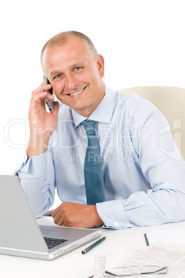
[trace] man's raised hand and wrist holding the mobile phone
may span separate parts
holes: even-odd
[[[28,158],[43,154],[48,149],[48,141],[57,127],[59,102],[55,102],[53,113],[46,111],[45,98],[54,99],[46,90],[51,84],[41,84],[32,92],[29,109],[30,139],[28,142]]]

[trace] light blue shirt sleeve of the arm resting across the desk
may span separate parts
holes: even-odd
[[[137,156],[146,157],[145,161],[139,160],[137,166],[150,188],[146,192],[135,192],[126,200],[97,203],[104,228],[184,221],[185,162],[161,113],[150,115],[133,145]]]

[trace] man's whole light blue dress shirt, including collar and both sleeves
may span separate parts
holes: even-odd
[[[166,104],[167,105],[167,104]],[[86,204],[83,116],[60,104],[48,151],[16,171],[36,217],[54,202]],[[107,228],[132,228],[185,220],[185,162],[164,115],[137,95],[106,95],[88,118],[97,121],[106,202],[97,212]],[[92,184],[93,186],[93,184]]]

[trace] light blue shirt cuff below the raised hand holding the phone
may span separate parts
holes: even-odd
[[[19,178],[40,178],[46,175],[46,152],[28,159],[25,154],[21,165],[14,171]]]

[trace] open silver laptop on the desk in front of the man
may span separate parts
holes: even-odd
[[[17,176],[0,176],[0,254],[55,259],[101,230],[37,225]]]

